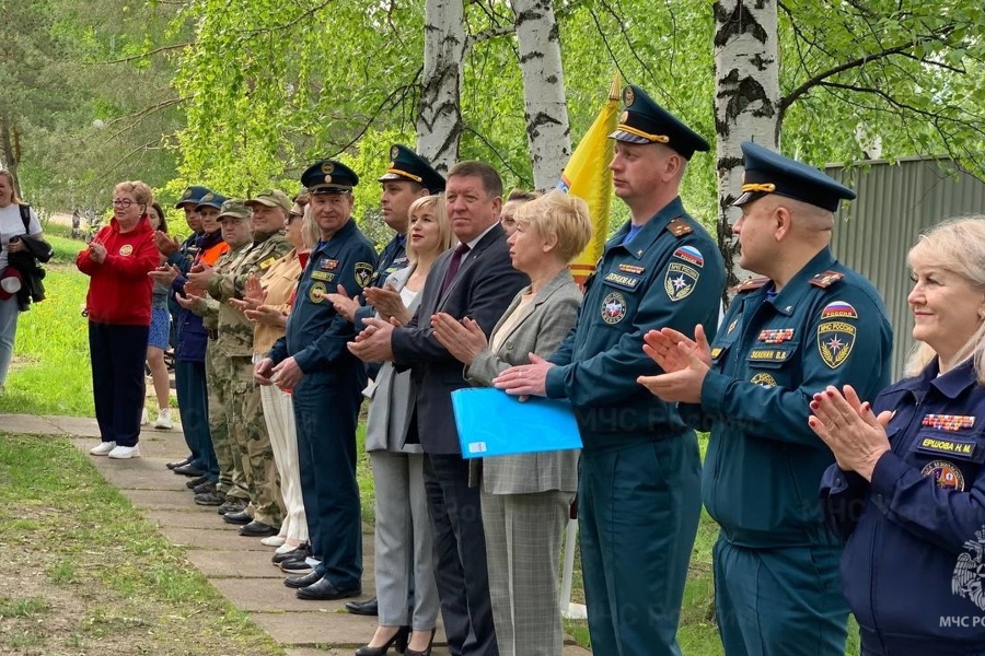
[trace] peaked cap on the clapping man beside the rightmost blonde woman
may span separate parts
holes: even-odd
[[[855,200],[855,191],[813,166],[785,157],[752,141],[742,142],[745,173],[742,195],[732,203],[743,206],[768,194],[795,198],[834,212],[842,200]]]

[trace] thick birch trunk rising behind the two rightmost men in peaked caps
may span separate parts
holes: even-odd
[[[715,3],[715,131],[718,154],[718,244],[735,281],[730,203],[742,188],[743,141],[779,143],[776,0]]]

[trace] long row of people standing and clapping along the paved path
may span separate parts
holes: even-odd
[[[274,548],[301,599],[362,594],[356,431],[371,400],[378,598],[347,606],[379,625],[357,656],[429,654],[439,611],[456,656],[560,654],[572,504],[596,654],[681,653],[703,506],[720,527],[726,654],[841,656],[849,610],[866,655],[982,653],[983,622],[937,616],[985,609],[985,220],[941,224],[911,251],[923,347],[889,387],[885,308],[830,248],[855,192],[744,143],[732,230],[756,277],[719,321],[725,265],[679,195],[709,145],[641,89],[623,99],[610,167],[630,220],[583,289],[568,263],[591,237],[584,203],[514,194],[505,211],[483,162],[442,175],[394,145],[379,255],[352,220],[359,176],[338,161],[313,163],[293,199],[188,187],[183,243],[151,225],[163,214],[147,185],[120,183],[77,260],[91,453],[139,456],[167,303],[189,452],[167,467]],[[583,448],[464,459],[451,393],[468,386],[566,399]]]

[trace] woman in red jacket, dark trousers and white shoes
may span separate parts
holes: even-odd
[[[118,184],[109,225],[76,258],[79,270],[90,277],[89,353],[102,436],[102,443],[89,452],[94,456],[140,455],[137,440],[153,286],[148,273],[160,258],[147,218],[153,200],[150,187],[139,180]]]

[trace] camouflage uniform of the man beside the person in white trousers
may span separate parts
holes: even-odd
[[[253,379],[253,324],[228,301],[242,298],[246,280],[262,276],[290,249],[283,231],[255,233],[253,244],[232,255],[229,267],[212,277],[208,290],[220,303],[216,340],[220,358],[212,365],[229,386],[224,414],[233,460],[242,467],[250,492],[246,514],[274,527],[280,526],[283,505],[259,387]]]

